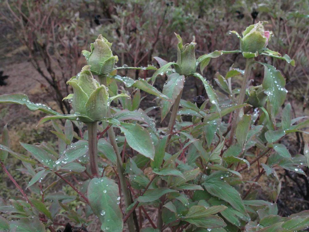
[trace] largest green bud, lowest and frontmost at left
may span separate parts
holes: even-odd
[[[73,110],[76,114],[85,115],[94,121],[105,117],[108,106],[108,92],[104,85],[100,85],[92,76],[90,65],[83,67],[82,71],[72,77],[67,84],[73,87]]]

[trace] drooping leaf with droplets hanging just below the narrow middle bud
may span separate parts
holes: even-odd
[[[171,106],[176,101],[176,98],[184,88],[184,75],[173,73],[168,76],[167,83],[164,84],[162,93],[165,94],[171,101],[162,100],[161,107],[161,122],[166,117],[171,109]]]

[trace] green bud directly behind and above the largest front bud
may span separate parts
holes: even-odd
[[[114,70],[115,63],[118,62],[118,57],[113,56],[111,50],[112,43],[99,35],[94,43],[90,45],[90,52],[83,50],[91,72],[95,75],[107,75]]]

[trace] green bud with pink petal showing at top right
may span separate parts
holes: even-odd
[[[266,21],[260,21],[257,24],[250,25],[243,31],[243,37],[235,33],[240,39],[240,50],[245,53],[256,53],[264,49],[270,40],[272,32],[265,31],[264,24]]]

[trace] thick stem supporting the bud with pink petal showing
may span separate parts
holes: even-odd
[[[243,101],[245,99],[246,87],[247,87],[247,83],[249,81],[249,77],[250,77],[250,74],[251,74],[252,64],[253,64],[253,58],[247,58],[246,59],[245,73],[243,75],[243,83],[241,85],[241,89],[240,89],[237,105],[243,104]],[[235,112],[235,115],[234,115],[234,118],[233,118],[233,122],[232,122],[229,146],[231,146],[231,144],[232,144],[232,142],[234,140],[234,134],[235,134],[235,130],[236,130],[236,126],[237,126],[238,120],[239,120],[239,113],[240,113],[241,110],[243,110],[243,108],[239,108]]]

